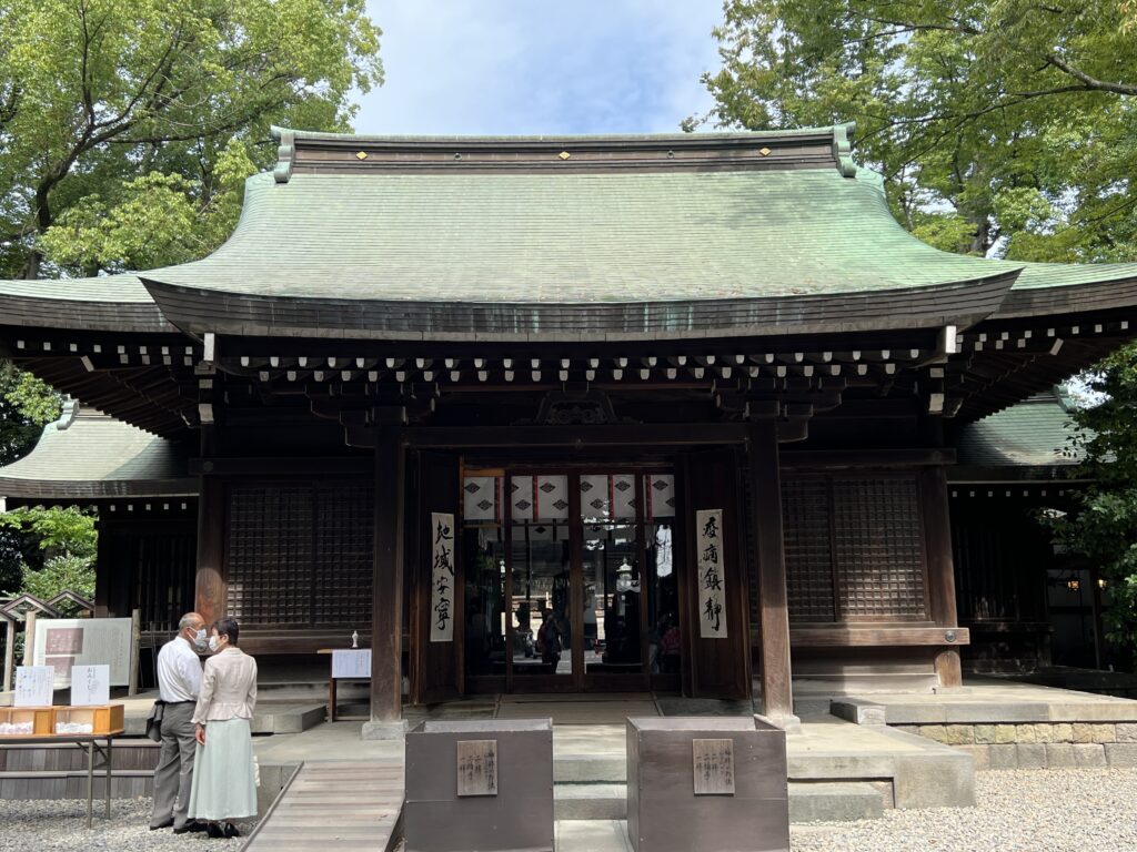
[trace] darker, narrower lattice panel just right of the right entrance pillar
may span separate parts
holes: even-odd
[[[828,482],[820,476],[783,479],[782,523],[790,620],[832,621]]]

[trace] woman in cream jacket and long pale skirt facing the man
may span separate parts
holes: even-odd
[[[249,727],[257,703],[257,661],[236,646],[238,632],[232,618],[213,626],[214,655],[206,660],[193,713],[198,746],[190,818],[207,821],[210,837],[236,837],[233,820],[257,816]]]

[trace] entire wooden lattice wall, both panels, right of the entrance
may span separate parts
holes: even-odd
[[[928,619],[915,475],[789,475],[786,584],[795,623]]]

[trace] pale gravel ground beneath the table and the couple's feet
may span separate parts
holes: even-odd
[[[211,841],[205,834],[175,835],[169,828],[150,830],[151,799],[119,799],[110,802],[110,820],[102,817],[103,804],[94,803],[91,830],[86,828],[86,802],[77,799],[0,801],[0,850],[55,852],[56,850],[190,850],[236,852],[243,837]],[[254,822],[238,822],[243,833]]]

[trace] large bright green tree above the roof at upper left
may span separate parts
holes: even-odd
[[[347,130],[379,35],[364,0],[0,0],[0,277],[207,253],[271,124]]]

